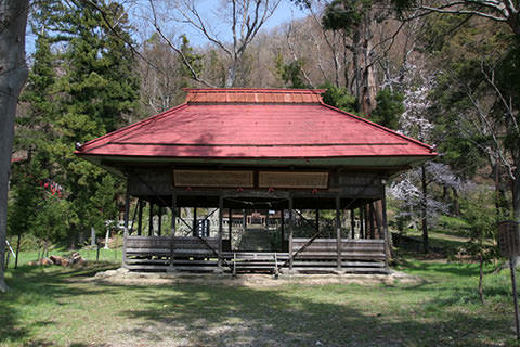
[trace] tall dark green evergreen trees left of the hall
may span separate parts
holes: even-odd
[[[115,196],[121,182],[74,155],[77,142],[126,125],[138,100],[135,61],[126,43],[132,41],[127,13],[110,0],[96,1],[96,7],[103,14],[88,2],[35,3],[35,62],[15,147],[28,153],[29,165],[21,167],[20,177],[56,182],[66,193],[61,198],[40,197],[31,213],[38,198],[30,198],[27,206],[18,203],[29,198],[30,182],[14,182],[13,232],[30,228],[38,236],[57,242],[65,236],[73,240],[90,226],[102,231],[106,220],[117,219]],[[31,167],[40,169],[31,171]],[[24,223],[24,215],[29,222]]]

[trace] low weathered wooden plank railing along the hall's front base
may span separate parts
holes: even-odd
[[[224,271],[301,273],[387,273],[382,240],[342,239],[338,257],[335,239],[292,240],[289,253],[221,252],[216,237],[126,236],[123,267],[133,271]],[[220,261],[219,261],[220,259]],[[220,264],[219,264],[220,262]]]

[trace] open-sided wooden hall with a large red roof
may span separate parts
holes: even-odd
[[[185,103],[78,145],[127,179],[122,266],[388,272],[385,185],[437,154],[322,92],[188,89]]]

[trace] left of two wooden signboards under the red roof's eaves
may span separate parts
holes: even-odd
[[[253,188],[252,171],[173,170],[174,187]]]

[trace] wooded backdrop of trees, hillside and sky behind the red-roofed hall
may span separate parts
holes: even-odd
[[[183,88],[320,88],[440,154],[389,182],[392,229],[416,229],[428,252],[441,226],[490,259],[496,222],[520,220],[515,3],[294,0],[307,16],[266,29],[280,0],[34,2],[8,235],[74,246],[104,234],[123,183],[76,143],[182,103]]]

